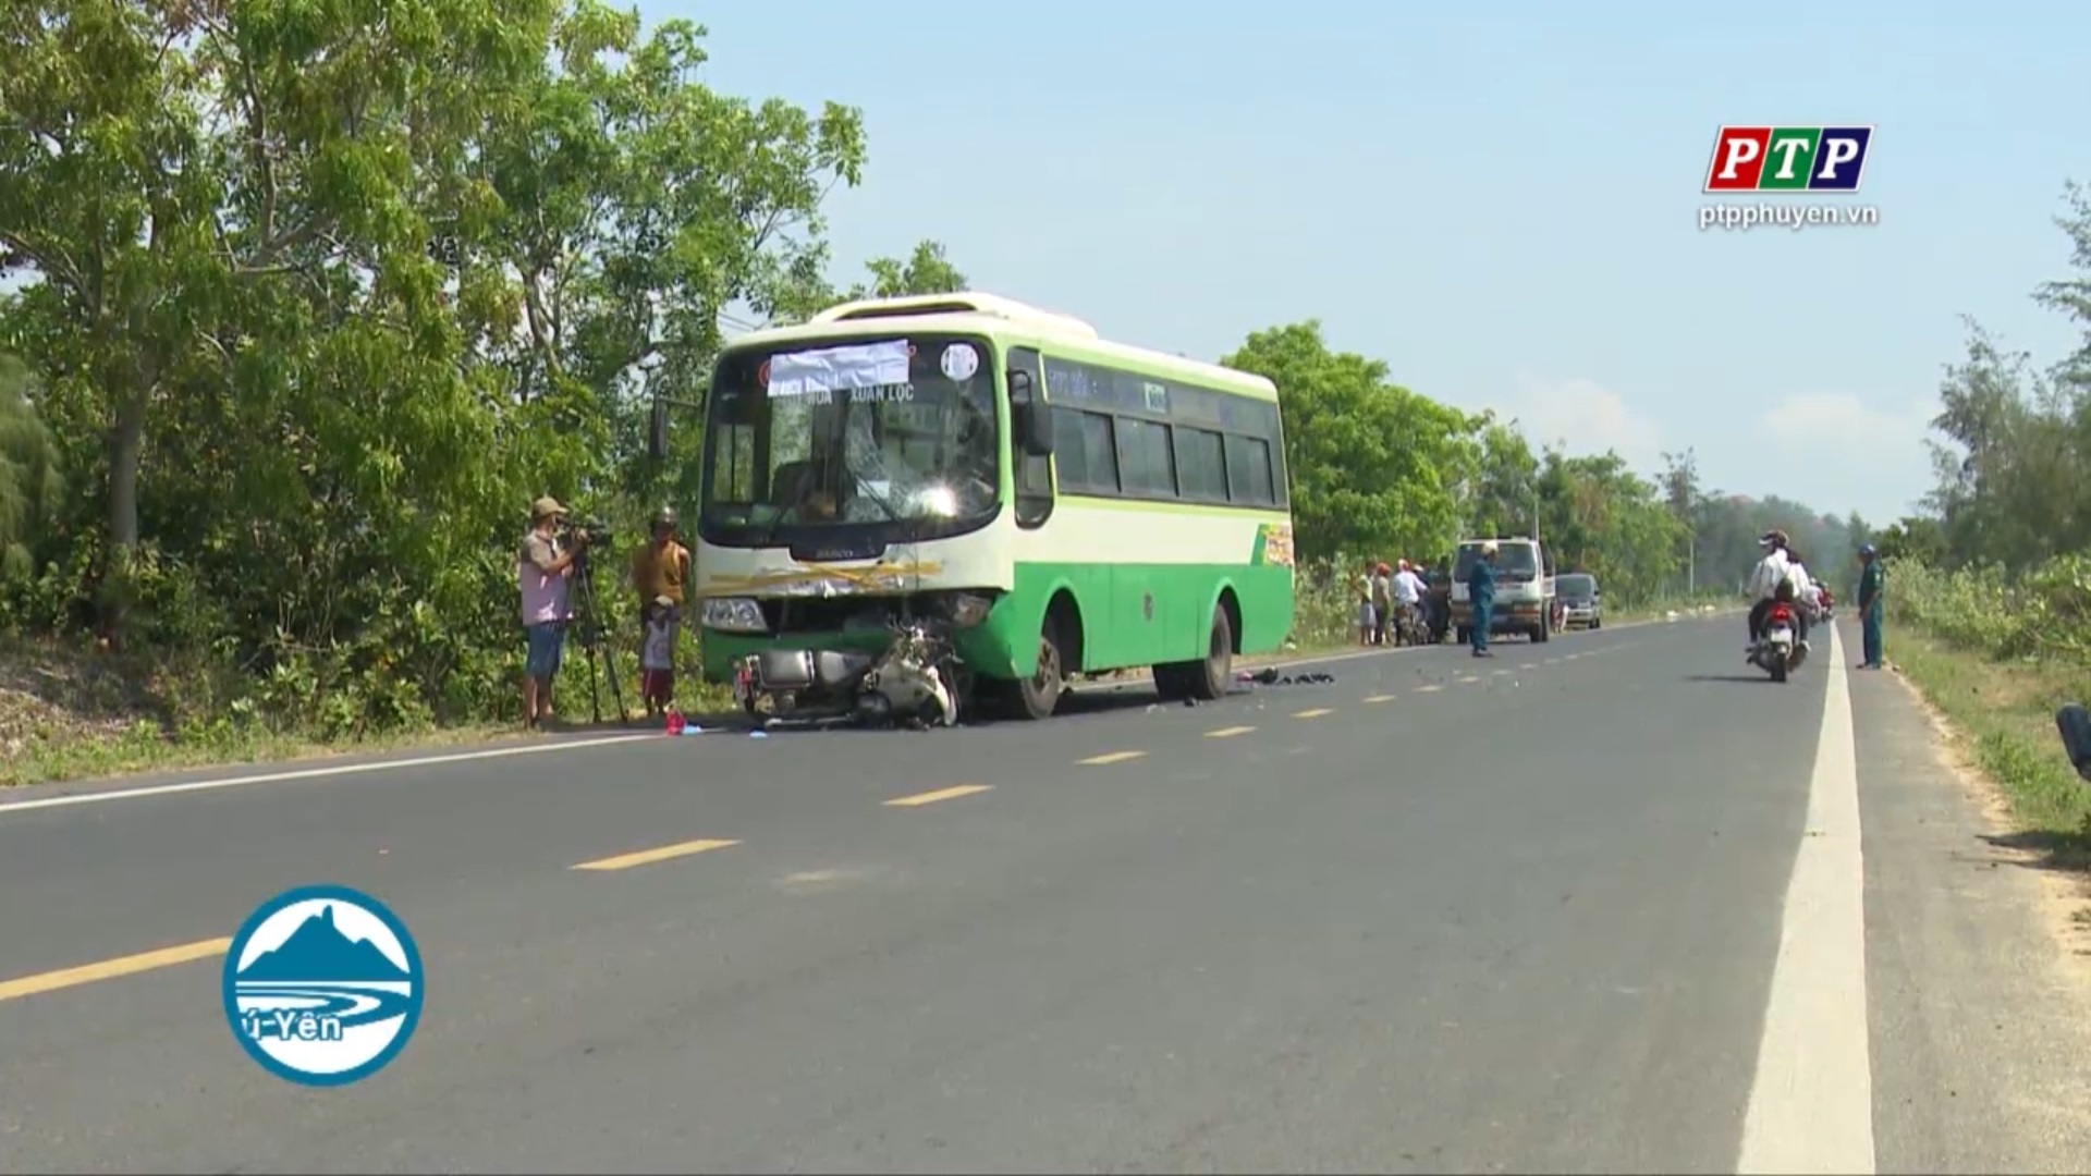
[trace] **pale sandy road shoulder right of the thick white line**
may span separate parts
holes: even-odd
[[[1897,674],[1853,674],[1878,1172],[2081,1172],[2081,883],[1999,843],[1997,789]]]

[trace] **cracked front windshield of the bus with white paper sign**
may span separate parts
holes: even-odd
[[[705,427],[707,538],[769,542],[851,523],[933,538],[991,515],[997,490],[985,339],[838,339],[719,360]]]

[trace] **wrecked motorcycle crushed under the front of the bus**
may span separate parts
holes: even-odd
[[[914,617],[887,628],[893,640],[884,653],[751,653],[734,668],[734,699],[751,716],[767,699],[778,718],[953,726],[966,684],[949,626]]]

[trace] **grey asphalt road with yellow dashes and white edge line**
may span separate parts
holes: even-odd
[[[0,1170],[2081,1170],[2032,883],[1968,898],[1976,816],[1890,676],[1819,640],[1773,686],[1740,628],[19,789]],[[335,1090],[220,1011],[222,940],[309,883],[429,969],[408,1050]]]

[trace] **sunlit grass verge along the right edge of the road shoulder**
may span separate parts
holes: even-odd
[[[1999,661],[1909,628],[1888,636],[1894,668],[1957,728],[1968,760],[2003,793],[2016,841],[2049,866],[2091,870],[2091,787],[2055,737],[2055,707],[2091,695],[2091,672]]]

